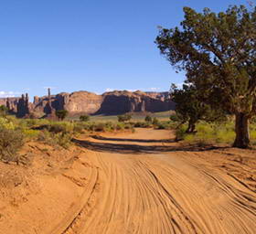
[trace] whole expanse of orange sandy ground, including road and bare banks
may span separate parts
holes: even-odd
[[[0,165],[0,233],[256,233],[256,152],[172,138],[138,129],[72,151],[30,145],[32,165]]]

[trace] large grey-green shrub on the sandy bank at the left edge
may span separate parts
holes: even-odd
[[[0,128],[0,160],[18,164],[18,150],[24,144],[24,135],[18,130]]]

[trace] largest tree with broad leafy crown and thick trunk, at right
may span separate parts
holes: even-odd
[[[235,114],[235,147],[250,145],[256,113],[256,8],[230,6],[219,14],[185,7],[181,27],[161,28],[156,44],[178,71],[185,70],[212,108]]]

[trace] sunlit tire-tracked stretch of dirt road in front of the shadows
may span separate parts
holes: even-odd
[[[255,193],[193,153],[88,156],[101,186],[62,233],[255,233]]]

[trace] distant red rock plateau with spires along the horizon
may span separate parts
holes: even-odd
[[[67,110],[70,116],[80,114],[115,115],[125,112],[165,112],[175,110],[175,103],[168,92],[131,92],[114,90],[98,95],[88,91],[61,92],[57,95],[34,97],[29,102],[28,94],[19,98],[2,98],[0,105],[23,118],[33,114],[36,117],[49,116],[57,110]]]

